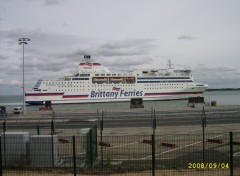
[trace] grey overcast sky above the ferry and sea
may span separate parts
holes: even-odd
[[[239,0],[0,0],[0,95],[76,71],[83,54],[110,70],[192,69],[210,88],[240,87]]]

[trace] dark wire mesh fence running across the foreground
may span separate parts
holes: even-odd
[[[163,172],[240,172],[240,133],[100,136],[96,128],[80,136],[1,136],[2,175],[157,175]],[[204,148],[203,148],[203,144]]]

